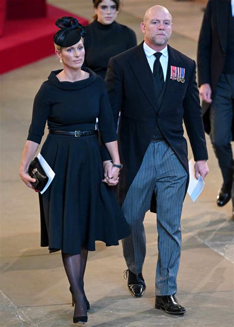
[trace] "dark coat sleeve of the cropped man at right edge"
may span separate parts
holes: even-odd
[[[198,85],[211,84],[210,55],[211,55],[211,1],[207,3],[197,47]],[[218,36],[217,36],[218,37]]]

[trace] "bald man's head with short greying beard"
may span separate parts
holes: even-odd
[[[141,24],[145,40],[155,45],[166,45],[170,39],[173,24],[169,11],[162,8],[154,8],[147,15],[145,22]]]

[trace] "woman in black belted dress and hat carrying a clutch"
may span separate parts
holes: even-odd
[[[102,181],[101,147],[95,132],[97,117],[112,161],[120,165],[105,83],[90,69],[81,69],[85,31],[78,20],[62,17],[56,25],[60,30],[54,36],[55,52],[64,69],[51,72],[35,97],[20,176],[33,188],[36,180],[27,171],[47,121],[49,134],[41,155],[55,177],[48,189],[39,194],[41,246],[48,246],[50,252],[62,251],[74,296],[74,322],[84,323],[89,309],[83,289],[88,251],[95,250],[96,240],[118,245],[118,240],[129,235],[129,229],[113,190]],[[118,173],[119,168],[114,166],[109,185],[117,184]]]

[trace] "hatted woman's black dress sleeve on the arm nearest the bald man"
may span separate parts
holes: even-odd
[[[101,132],[103,142],[108,143],[117,140],[117,131],[105,82],[101,78],[100,81],[102,90],[99,103],[98,127]]]

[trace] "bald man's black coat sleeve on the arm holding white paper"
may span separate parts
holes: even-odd
[[[208,159],[205,131],[202,122],[199,91],[196,83],[196,64],[190,79],[184,101],[184,123],[194,154],[194,160]]]

